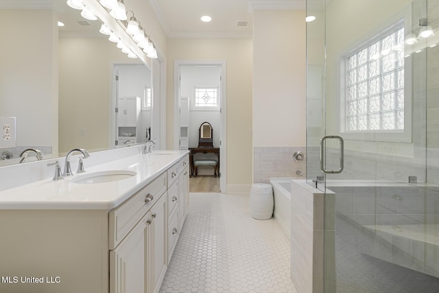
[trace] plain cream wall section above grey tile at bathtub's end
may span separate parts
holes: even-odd
[[[256,10],[253,147],[305,145],[305,11]]]

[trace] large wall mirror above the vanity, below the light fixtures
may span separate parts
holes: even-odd
[[[151,65],[123,54],[99,33],[99,21],[86,21],[65,1],[51,2],[0,0],[0,35],[8,44],[0,54],[0,117],[16,117],[16,148],[0,148],[13,158],[0,159],[0,166],[18,163],[26,148],[40,149],[46,159],[72,148],[123,145],[121,137],[133,134],[118,128],[115,108],[124,97],[140,99],[130,140],[147,139]]]

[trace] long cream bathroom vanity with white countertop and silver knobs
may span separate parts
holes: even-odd
[[[158,292],[188,204],[187,151],[0,191],[0,292]]]

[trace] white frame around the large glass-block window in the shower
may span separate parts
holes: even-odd
[[[407,32],[407,17],[401,16],[392,25],[381,27],[381,30],[375,32],[372,37],[368,38],[364,42],[354,45],[352,49],[346,51],[340,57],[340,134],[345,139],[352,140],[366,140],[366,141],[392,141],[392,142],[412,142],[412,55],[405,56],[404,58],[404,130],[357,130],[348,131],[348,97],[347,97],[347,81],[348,77],[348,64],[347,58],[353,54],[357,54],[362,49],[369,47],[376,43],[378,40],[382,40],[385,36],[392,34],[404,27],[404,31]],[[369,96],[368,96],[369,97]],[[380,112],[381,113],[381,112]]]

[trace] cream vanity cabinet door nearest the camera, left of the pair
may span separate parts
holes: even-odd
[[[147,213],[121,244],[110,250],[110,293],[147,292],[147,223],[151,220],[151,213]]]

